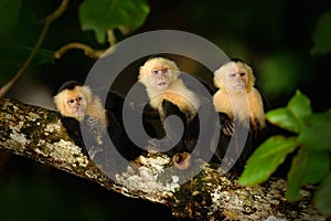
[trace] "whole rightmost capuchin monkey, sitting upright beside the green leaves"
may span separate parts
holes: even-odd
[[[220,90],[214,94],[213,103],[221,118],[221,138],[215,156],[223,160],[226,170],[232,168],[231,171],[238,175],[265,136],[263,98],[254,87],[252,67],[238,59],[232,59],[215,71],[214,84]]]

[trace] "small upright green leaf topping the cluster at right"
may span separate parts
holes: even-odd
[[[312,113],[310,99],[301,94],[300,91],[296,92],[296,95],[289,101],[287,107],[297,118],[302,118]]]

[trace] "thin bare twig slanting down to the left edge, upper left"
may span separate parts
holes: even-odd
[[[0,88],[0,98],[4,96],[4,94],[17,83],[17,81],[22,76],[22,74],[28,70],[28,67],[30,66],[33,57],[35,56],[36,52],[39,51],[47,31],[51,25],[51,23],[60,18],[63,12],[66,10],[67,6],[70,3],[70,0],[63,0],[62,3],[60,4],[60,7],[51,14],[49,14],[45,18],[45,22],[44,22],[44,27],[42,29],[42,32],[31,52],[31,54],[29,55],[28,60],[25,61],[25,63],[21,66],[21,69],[18,71],[18,73],[6,84]]]

